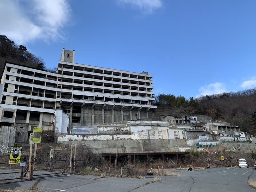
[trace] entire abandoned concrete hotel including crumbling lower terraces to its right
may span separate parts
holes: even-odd
[[[0,145],[27,143],[34,127],[51,131],[57,142],[86,141],[102,154],[185,152],[249,139],[239,127],[209,116],[155,115],[151,78],[147,72],[77,64],[75,51],[65,49],[56,73],[7,62],[0,84]]]

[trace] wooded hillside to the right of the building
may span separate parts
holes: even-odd
[[[154,104],[177,110],[182,108],[190,115],[209,115],[214,121],[226,121],[233,126],[239,126],[241,131],[256,136],[256,88],[206,95],[196,99],[191,97],[188,100],[183,96],[158,94],[155,96]]]

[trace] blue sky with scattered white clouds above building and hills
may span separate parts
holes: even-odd
[[[5,34],[55,67],[148,71],[154,91],[186,98],[256,86],[256,1],[1,1]],[[1,15],[3,14],[3,15]]]

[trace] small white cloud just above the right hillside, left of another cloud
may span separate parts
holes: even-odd
[[[223,83],[211,83],[209,85],[206,86],[202,86],[199,88],[199,94],[196,95],[196,97],[200,97],[203,95],[213,95],[213,94],[220,94],[223,92],[227,92],[226,88],[225,88],[225,84]]]

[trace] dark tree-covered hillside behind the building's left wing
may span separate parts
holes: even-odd
[[[55,72],[55,69],[47,69],[44,65],[44,60],[28,52],[25,46],[16,45],[5,35],[0,35],[0,74],[2,74],[5,62]]]

